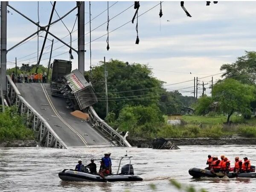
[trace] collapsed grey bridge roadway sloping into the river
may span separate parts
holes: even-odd
[[[72,110],[65,107],[64,99],[52,97],[49,83],[16,83],[16,86],[68,147],[111,146],[111,142],[87,122],[71,115]]]

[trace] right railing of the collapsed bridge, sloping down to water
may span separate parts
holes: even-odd
[[[130,143],[122,137],[115,129],[109,126],[104,120],[102,120],[92,106],[88,107],[88,114],[90,115],[91,120],[94,122],[97,128],[108,135],[108,137],[117,142],[118,146],[131,147]]]

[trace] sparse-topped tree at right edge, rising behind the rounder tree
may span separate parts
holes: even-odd
[[[256,83],[256,52],[245,51],[245,55],[238,57],[235,63],[224,64],[220,70],[225,71],[222,77],[253,85]]]

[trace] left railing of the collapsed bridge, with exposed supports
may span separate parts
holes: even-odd
[[[26,117],[26,125],[38,133],[41,146],[67,149],[66,144],[53,131],[49,123],[20,95],[11,77],[7,76],[7,98],[11,105],[16,105],[18,112]]]

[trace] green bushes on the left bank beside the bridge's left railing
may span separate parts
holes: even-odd
[[[16,111],[10,107],[0,113],[0,141],[34,139],[33,131],[26,128],[24,119]]]

